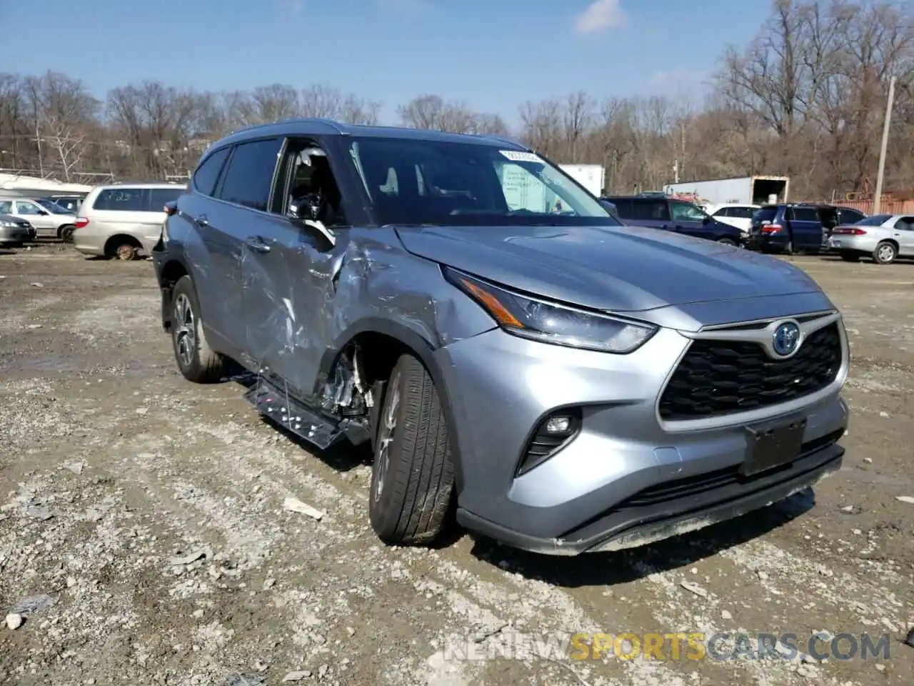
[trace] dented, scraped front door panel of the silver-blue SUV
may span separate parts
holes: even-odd
[[[264,230],[248,236],[241,258],[248,353],[264,376],[310,402],[333,340],[335,274],[348,230],[336,231],[330,248],[300,222],[279,215],[260,221]]]

